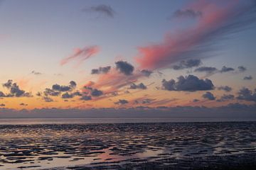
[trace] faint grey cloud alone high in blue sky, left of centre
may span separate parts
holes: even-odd
[[[107,6],[105,4],[100,4],[97,6],[90,6],[90,8],[83,8],[82,11],[100,13],[100,14],[110,17],[110,18],[113,18],[114,14],[115,14],[113,8],[111,6]]]

